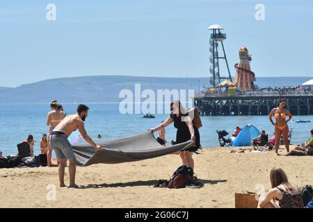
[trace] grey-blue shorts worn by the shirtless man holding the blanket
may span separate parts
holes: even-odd
[[[54,149],[54,152],[56,152],[57,160],[75,159],[73,147],[65,134],[50,135],[50,144]]]

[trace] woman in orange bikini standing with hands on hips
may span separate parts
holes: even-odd
[[[278,108],[273,108],[271,113],[269,114],[269,119],[273,126],[275,126],[275,151],[278,155],[278,148],[280,148],[280,138],[283,137],[284,139],[284,146],[286,147],[287,153],[289,153],[289,141],[288,141],[288,134],[289,134],[289,127],[288,122],[292,118],[292,114],[286,108],[287,101],[286,99],[282,99],[278,102]],[[273,122],[272,117],[275,117],[276,122]],[[289,117],[286,120],[287,116]]]

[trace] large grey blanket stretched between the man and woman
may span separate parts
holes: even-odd
[[[189,140],[173,146],[161,146],[153,133],[148,131],[147,133],[116,139],[111,142],[100,143],[99,145],[104,148],[98,152],[90,145],[73,146],[77,165],[86,167],[99,163],[118,164],[146,160],[182,151],[194,146],[194,142]]]

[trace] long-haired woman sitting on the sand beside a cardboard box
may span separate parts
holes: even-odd
[[[272,189],[268,191],[264,200],[260,200],[262,208],[303,208],[301,190],[291,185],[286,173],[280,168],[271,169],[270,173]],[[278,200],[278,204],[275,203]]]

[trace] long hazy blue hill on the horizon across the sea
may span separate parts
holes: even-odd
[[[259,87],[296,86],[310,80],[309,77],[257,78]],[[56,99],[63,103],[73,102],[118,102],[122,89],[131,89],[141,84],[141,90],[195,89],[209,86],[208,78],[159,78],[138,76],[86,76],[56,78],[19,87],[0,87],[0,103],[49,103]],[[200,84],[199,84],[200,83]]]

